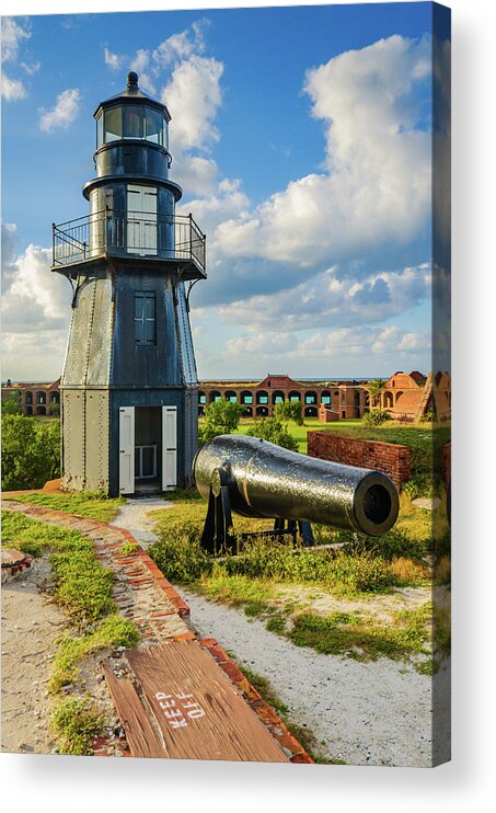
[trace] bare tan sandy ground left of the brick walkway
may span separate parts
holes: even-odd
[[[66,618],[38,592],[48,573],[46,560],[37,559],[2,584],[2,751],[46,754],[53,748],[47,683]]]

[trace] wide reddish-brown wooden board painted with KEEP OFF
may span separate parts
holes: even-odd
[[[289,758],[212,656],[195,641],[126,652],[170,758]]]

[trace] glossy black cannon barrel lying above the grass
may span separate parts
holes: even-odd
[[[369,536],[385,534],[397,517],[397,491],[387,474],[308,457],[256,437],[215,437],[197,453],[193,473],[206,500],[222,479],[231,507],[241,516],[319,523]]]

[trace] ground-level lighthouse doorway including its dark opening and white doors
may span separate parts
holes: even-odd
[[[152,494],[177,483],[175,406],[122,406],[119,492]]]

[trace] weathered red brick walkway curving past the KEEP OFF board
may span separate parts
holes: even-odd
[[[312,762],[284,722],[263,700],[217,641],[215,639],[198,640],[187,623],[189,617],[187,604],[145,550],[138,546],[137,550],[131,553],[122,552],[122,547],[126,542],[138,545],[129,531],[95,519],[14,500],[3,500],[2,507],[5,511],[25,514],[43,523],[77,530],[89,537],[102,564],[114,573],[114,599],[120,615],[132,621],[140,631],[138,649],[172,641],[191,641],[199,645],[201,650],[211,655],[217,667],[229,677],[237,691],[278,743],[286,758],[292,763]],[[101,754],[104,754],[104,748]]]

